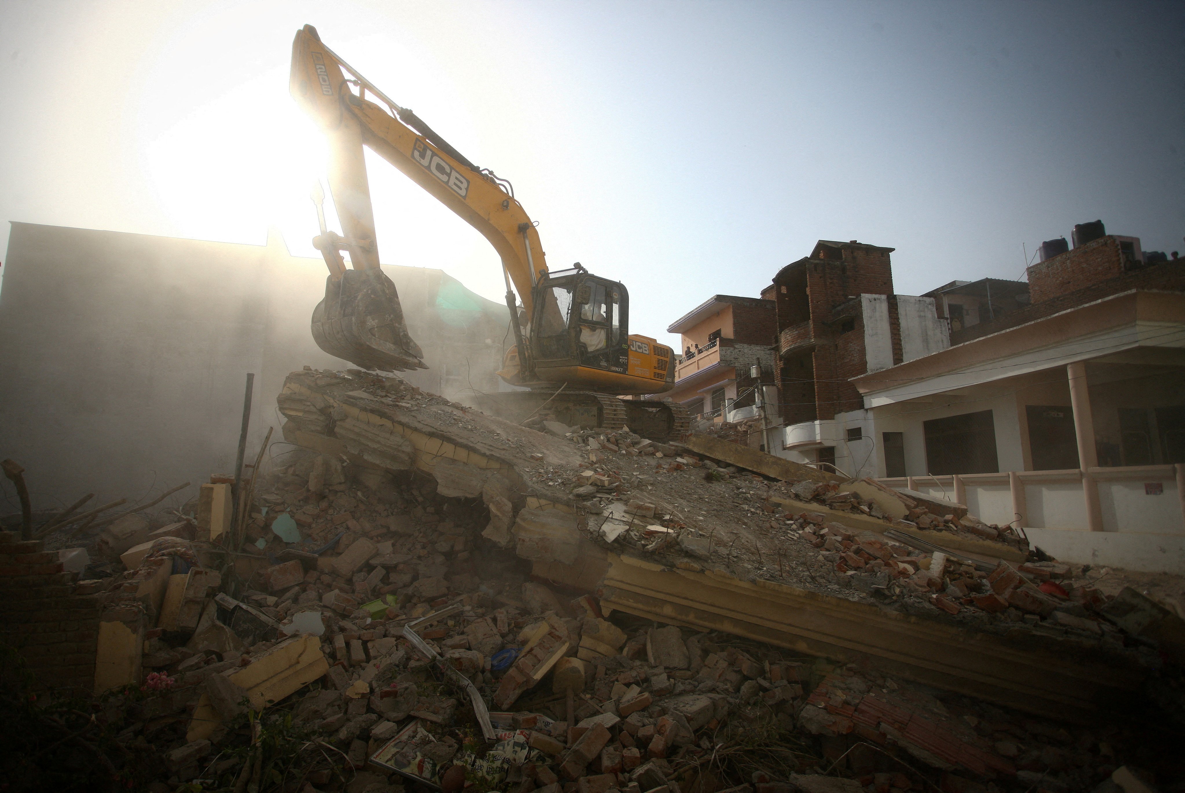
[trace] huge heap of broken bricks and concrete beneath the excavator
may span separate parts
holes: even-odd
[[[109,522],[75,573],[38,568],[98,614],[97,696],[31,710],[24,689],[5,695],[19,718],[60,725],[14,780],[92,730],[79,740],[113,757],[108,787],[154,793],[1140,789],[1126,763],[1183,789],[1164,748],[1185,698],[1179,618],[1134,589],[1104,594],[1089,567],[918,548],[948,536],[1027,551],[1007,527],[867,482],[771,481],[628,428],[499,423],[361,372],[296,372],[280,404],[302,447],[252,477],[237,518],[214,477],[179,510]],[[443,427],[465,454],[433,445]],[[840,665],[671,623],[674,610],[609,610],[595,582],[557,574],[585,545],[1053,637],[1059,652],[1094,642],[1138,655],[1162,710],[1051,722],[871,657]]]

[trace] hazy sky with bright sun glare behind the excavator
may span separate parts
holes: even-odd
[[[902,294],[1021,277],[1023,244],[1096,218],[1185,252],[1181,2],[6,0],[0,220],[275,225],[315,256],[306,23],[513,181],[552,269],[623,281],[630,331],[675,345],[674,319],[819,238],[896,248]],[[384,262],[501,301],[483,238],[377,158],[370,178]]]

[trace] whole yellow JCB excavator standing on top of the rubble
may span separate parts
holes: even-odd
[[[313,312],[318,346],[367,370],[427,367],[403,321],[395,284],[379,269],[363,159],[367,146],[480,231],[501,257],[515,344],[498,373],[530,390],[485,395],[480,407],[518,421],[542,410],[569,426],[628,424],[654,440],[687,431],[690,416],[679,404],[617,398],[668,390],[673,351],[629,334],[623,284],[579,263],[547,270],[539,232],[508,181],[475,166],[374,88],[325,46],[312,25],[293,41],[289,89],[329,140],[329,190],[342,229],[341,235],[327,230],[314,197],[321,234],[313,244],[329,269],[325,299]],[[348,268],[342,251],[350,254]]]

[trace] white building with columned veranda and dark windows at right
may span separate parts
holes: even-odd
[[[1185,293],[1133,288],[852,382],[860,473],[1065,561],[1185,573]]]

